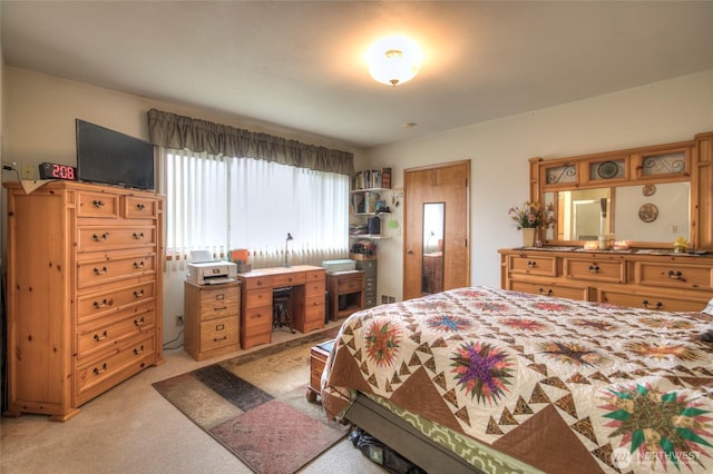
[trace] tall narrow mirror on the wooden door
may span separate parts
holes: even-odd
[[[423,204],[421,293],[424,295],[443,290],[445,216],[445,203]]]

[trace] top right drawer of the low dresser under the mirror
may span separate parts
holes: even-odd
[[[713,266],[637,261],[634,282],[646,286],[713,292]]]

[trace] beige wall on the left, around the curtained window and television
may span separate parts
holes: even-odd
[[[305,144],[321,145],[354,152],[354,165],[363,166],[363,151],[344,144],[301,134],[296,130],[260,124],[238,117],[225,117],[204,110],[148,100],[143,97],[69,81],[58,77],[4,67],[4,157],[23,165],[42,161],[76,165],[75,118],[80,118],[113,130],[148,139],[146,112],[157,108],[179,115],[214,122],[232,125],[253,131],[262,131]],[[37,171],[36,171],[37,174]],[[37,176],[37,175],[36,175]],[[2,172],[2,180],[16,180],[14,172]],[[4,230],[4,192],[2,192],[2,249],[4,255],[7,231]],[[175,315],[183,314],[183,273],[167,274],[164,280],[164,340],[178,335]]]

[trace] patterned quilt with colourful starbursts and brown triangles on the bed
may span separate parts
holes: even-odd
[[[713,328],[662,313],[473,287],[350,316],[322,379],[548,473],[713,472]]]

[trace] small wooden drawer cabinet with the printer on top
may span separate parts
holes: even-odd
[[[184,284],[184,347],[196,361],[240,349],[240,283]]]

